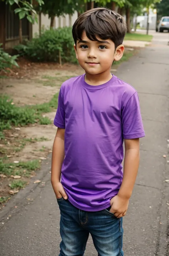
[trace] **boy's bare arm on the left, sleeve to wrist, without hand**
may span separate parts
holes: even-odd
[[[53,143],[52,150],[52,168],[51,168],[51,182],[60,182],[61,178],[61,168],[65,157],[64,148],[64,131],[63,129],[58,129],[56,137]]]

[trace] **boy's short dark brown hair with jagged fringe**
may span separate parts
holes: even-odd
[[[123,43],[127,32],[124,18],[108,8],[94,8],[81,14],[72,28],[72,35],[77,40],[82,40],[82,33],[86,32],[91,41],[99,41],[96,36],[106,40],[111,39],[115,48]]]

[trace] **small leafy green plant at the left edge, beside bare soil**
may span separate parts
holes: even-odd
[[[11,56],[4,52],[1,46],[2,44],[0,44],[0,71],[5,70],[6,68],[11,68],[12,65],[19,67],[15,61],[19,55]]]

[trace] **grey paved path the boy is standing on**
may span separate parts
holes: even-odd
[[[140,142],[137,182],[124,218],[125,256],[169,256],[169,183],[164,182],[169,179],[168,35],[155,34],[152,46],[123,63],[117,72],[138,91],[146,133]],[[50,158],[39,174],[46,173],[45,183],[20,191],[0,213],[1,256],[58,256],[60,213],[46,169],[49,165]],[[97,255],[91,238],[85,255]]]

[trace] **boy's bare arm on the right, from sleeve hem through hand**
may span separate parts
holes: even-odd
[[[126,215],[139,167],[139,138],[125,139],[124,143],[125,157],[123,181],[118,194],[111,199],[111,212],[114,213],[114,216],[117,218]]]

